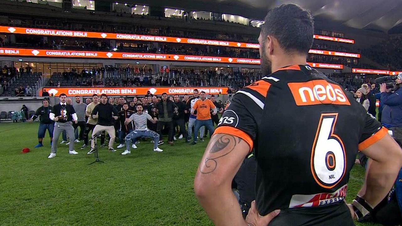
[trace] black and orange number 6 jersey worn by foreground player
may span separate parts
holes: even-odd
[[[293,65],[236,92],[219,133],[254,148],[256,204],[266,215],[345,199],[358,150],[387,130],[339,84],[310,66]]]

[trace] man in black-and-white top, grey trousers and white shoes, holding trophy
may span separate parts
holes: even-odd
[[[53,111],[49,114],[50,120],[55,121],[55,124],[53,130],[53,143],[51,146],[51,152],[49,154],[49,157],[47,158],[53,158],[54,156],[56,156],[57,143],[62,131],[66,131],[67,135],[70,138],[74,138],[74,127],[72,121],[78,123],[77,114],[73,106],[66,104],[66,94],[60,94],[59,99],[60,104],[53,106]],[[69,151],[70,154],[78,154],[74,150],[74,142],[70,142]]]

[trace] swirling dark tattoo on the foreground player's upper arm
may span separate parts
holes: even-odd
[[[226,156],[234,150],[236,145],[242,141],[241,138],[229,134],[216,134],[209,142],[207,149],[209,154],[199,167],[203,174],[212,173],[217,167],[217,159]]]

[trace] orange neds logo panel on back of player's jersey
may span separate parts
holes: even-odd
[[[343,89],[337,84],[326,80],[312,80],[308,82],[289,82],[297,106],[304,105],[351,105]]]

